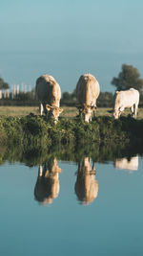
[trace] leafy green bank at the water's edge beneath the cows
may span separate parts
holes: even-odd
[[[55,126],[45,116],[0,117],[0,144],[55,145],[88,143],[142,143],[143,121],[132,117],[114,120],[98,116],[92,123],[79,118],[60,118]]]

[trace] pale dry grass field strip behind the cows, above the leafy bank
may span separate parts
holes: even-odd
[[[62,112],[62,117],[75,117],[78,114],[77,108],[72,106],[62,106],[64,111]],[[108,107],[98,107],[96,115],[97,116],[111,116],[112,108]],[[2,116],[25,116],[30,113],[39,114],[39,109],[37,106],[0,106],[0,115]],[[130,110],[127,109],[123,116],[130,114]],[[143,119],[143,108],[139,108],[137,119]]]

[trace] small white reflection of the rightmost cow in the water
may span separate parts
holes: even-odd
[[[138,155],[133,156],[130,160],[127,158],[116,159],[114,163],[117,169],[127,169],[131,171],[138,170]]]

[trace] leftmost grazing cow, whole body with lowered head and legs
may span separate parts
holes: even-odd
[[[51,114],[56,124],[59,114],[63,111],[59,107],[61,99],[59,84],[51,76],[43,75],[36,81],[35,92],[40,101],[40,114],[42,115],[43,111],[45,114]]]

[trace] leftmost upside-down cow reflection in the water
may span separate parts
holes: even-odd
[[[59,194],[58,174],[61,169],[57,165],[56,158],[51,162],[39,166],[39,174],[34,188],[34,197],[42,204],[51,203]]]

